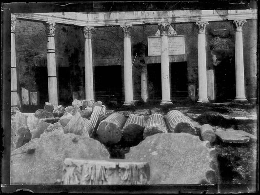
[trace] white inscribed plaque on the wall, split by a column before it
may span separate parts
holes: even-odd
[[[160,56],[160,37],[147,37],[148,56]],[[168,36],[169,55],[184,55],[184,35]]]

